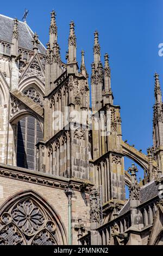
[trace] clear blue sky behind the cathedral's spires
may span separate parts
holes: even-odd
[[[153,144],[155,70],[160,74],[163,91],[163,57],[158,55],[158,45],[163,43],[163,1],[3,1],[1,14],[21,20],[24,8],[29,9],[28,25],[39,34],[43,44],[48,41],[49,13],[52,9],[56,11],[62,61],[65,61],[69,23],[74,21],[78,62],[84,49],[89,75],[93,32],[98,30],[102,61],[105,52],[110,56],[111,86],[114,103],[121,106],[123,139],[146,153]]]

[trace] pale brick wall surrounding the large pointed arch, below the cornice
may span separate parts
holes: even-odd
[[[26,181],[14,180],[0,176],[0,208],[10,197],[24,190],[32,189],[39,193],[47,203],[51,204],[61,218],[68,236],[68,199],[65,189],[52,188],[40,184]],[[78,219],[82,218],[82,223],[86,228],[85,233],[90,228],[89,222],[89,194],[73,190],[72,194],[72,244],[78,245],[78,231],[74,230],[74,225],[78,224]]]

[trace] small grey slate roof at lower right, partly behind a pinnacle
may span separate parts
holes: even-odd
[[[140,204],[143,204],[146,201],[156,197],[159,193],[158,186],[159,186],[159,184],[156,185],[155,181],[151,181],[151,182],[147,183],[145,186],[141,187],[141,189],[140,189]],[[118,214],[118,217],[124,215],[128,211],[130,211],[130,201],[129,200],[122,207],[121,211]]]

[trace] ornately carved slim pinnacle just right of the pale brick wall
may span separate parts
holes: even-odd
[[[90,222],[101,222],[100,197],[96,189],[92,189],[90,193]]]

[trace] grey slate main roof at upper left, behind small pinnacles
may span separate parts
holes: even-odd
[[[14,26],[14,19],[0,14],[0,40],[12,42],[12,29]],[[33,31],[26,22],[18,22],[18,47],[27,50],[33,50]],[[38,52],[46,54],[46,48],[40,42],[38,45]]]

